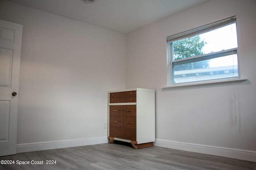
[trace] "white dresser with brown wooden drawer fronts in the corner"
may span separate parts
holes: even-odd
[[[155,90],[133,88],[108,92],[108,143],[132,143],[134,149],[155,141]]]

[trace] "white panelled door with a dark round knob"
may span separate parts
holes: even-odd
[[[22,25],[0,20],[0,156],[16,154]]]

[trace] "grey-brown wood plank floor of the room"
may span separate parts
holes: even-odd
[[[1,165],[0,170],[256,170],[256,162],[220,156],[113,143],[42,150],[2,156],[0,160],[29,161],[29,165]],[[31,161],[44,161],[32,165]],[[46,164],[56,160],[56,164]]]

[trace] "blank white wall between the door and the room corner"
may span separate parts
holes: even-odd
[[[125,34],[6,0],[0,19],[23,25],[18,145],[107,142],[108,90],[125,88]]]

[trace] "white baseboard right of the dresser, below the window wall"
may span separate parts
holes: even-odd
[[[156,139],[154,146],[256,162],[256,151]]]

